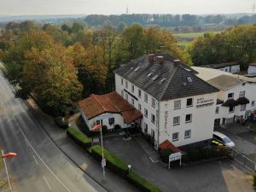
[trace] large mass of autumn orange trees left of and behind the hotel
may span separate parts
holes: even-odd
[[[0,59],[5,74],[32,93],[41,108],[59,115],[81,97],[114,90],[113,70],[140,55],[162,51],[190,63],[177,39],[159,27],[106,24],[92,29],[73,22],[40,26],[32,21],[10,22],[0,35]]]

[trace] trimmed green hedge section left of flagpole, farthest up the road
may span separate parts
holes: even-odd
[[[91,139],[73,127],[67,129],[67,136],[71,137],[75,143],[86,150],[89,150],[89,148],[92,146]]]

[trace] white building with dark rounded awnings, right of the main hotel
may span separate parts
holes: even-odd
[[[197,76],[218,88],[215,125],[247,119],[256,110],[256,79],[220,72],[216,69],[192,67]]]

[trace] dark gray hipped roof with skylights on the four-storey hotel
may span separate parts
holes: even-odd
[[[164,56],[164,62],[161,64],[156,61],[150,63],[148,56],[143,55],[119,67],[114,73],[154,96],[158,101],[218,92],[217,88],[196,77],[196,72],[191,67],[181,61],[175,65],[171,55],[155,56],[159,55]],[[152,73],[150,77],[149,73]],[[157,79],[153,80],[156,75]],[[192,82],[189,82],[188,77]]]

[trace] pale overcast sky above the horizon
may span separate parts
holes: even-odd
[[[0,0],[0,15],[252,13],[255,0]],[[255,9],[256,12],[256,9]]]

